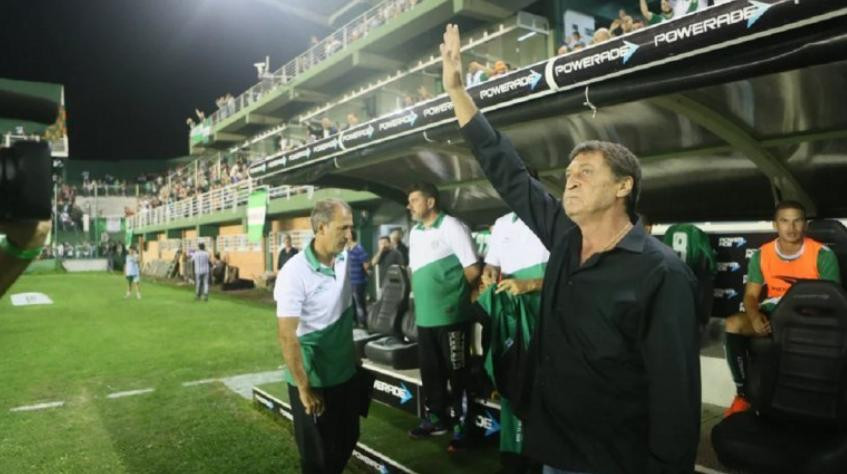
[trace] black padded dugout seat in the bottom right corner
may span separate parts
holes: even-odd
[[[847,472],[847,292],[801,280],[751,344],[753,409],[712,429],[727,467],[754,473]]]

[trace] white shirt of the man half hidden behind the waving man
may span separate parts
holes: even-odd
[[[550,251],[517,214],[510,212],[494,222],[485,263],[520,280],[544,278]]]

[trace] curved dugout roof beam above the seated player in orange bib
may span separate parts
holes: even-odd
[[[709,130],[742,153],[761,170],[770,181],[774,201],[795,199],[806,206],[810,215],[817,215],[817,206],[786,164],[768,151],[743,124],[726,114],[681,94],[649,99],[658,107],[687,117]]]

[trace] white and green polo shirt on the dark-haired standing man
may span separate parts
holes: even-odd
[[[412,227],[409,268],[418,326],[449,326],[471,318],[465,267],[474,263],[470,230],[455,217],[442,212],[431,226]]]

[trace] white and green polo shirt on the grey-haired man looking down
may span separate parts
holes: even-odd
[[[279,270],[274,286],[278,318],[299,318],[297,339],[312,387],[331,387],[356,372],[353,346],[353,292],[347,252],[332,268],[315,257],[312,243]],[[286,368],[283,378],[296,385]]]

